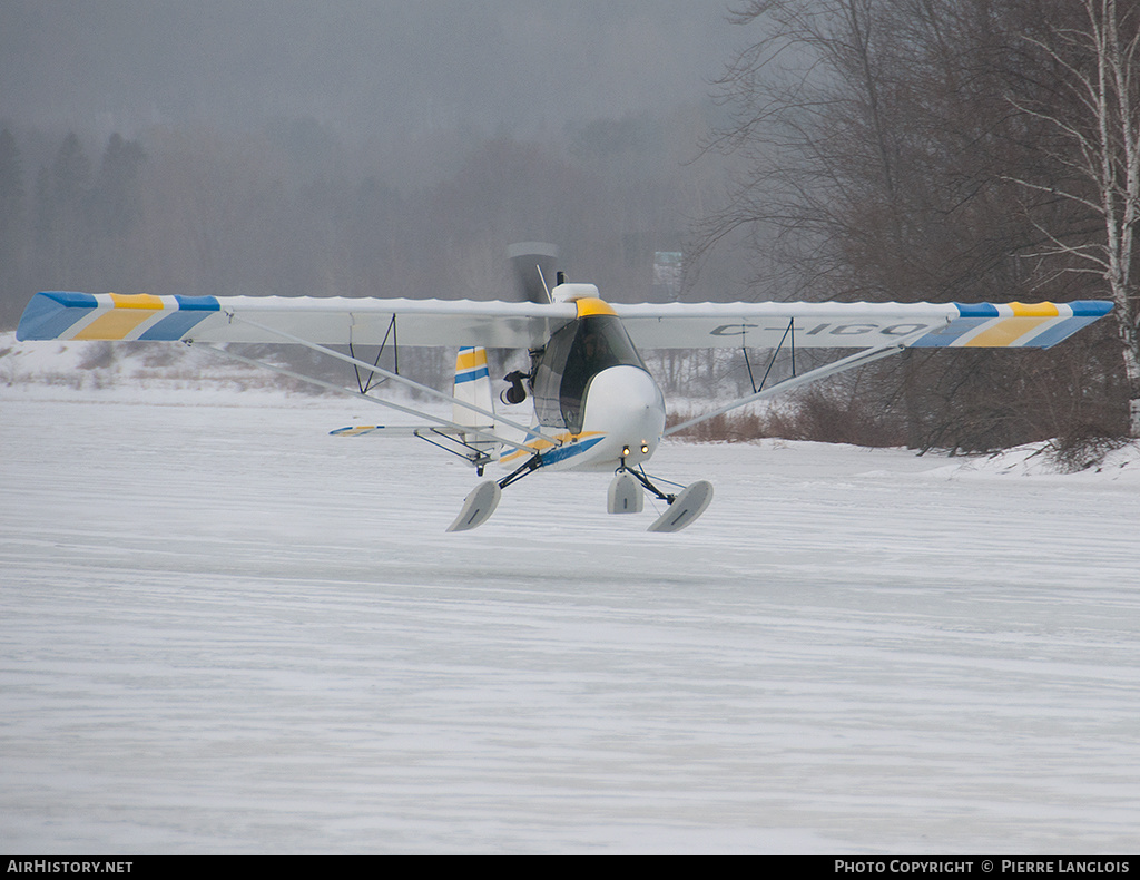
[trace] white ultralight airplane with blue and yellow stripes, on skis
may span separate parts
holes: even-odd
[[[547,286],[556,250],[543,243],[510,251],[526,300],[414,300],[317,297],[185,297],[149,293],[36,293],[21,318],[17,339],[181,341],[221,352],[325,388],[364,397],[429,422],[359,426],[337,436],[402,434],[421,437],[465,459],[483,476],[498,462],[510,469],[480,483],[448,531],[474,528],[495,512],[502,491],[537,470],[613,471],[608,510],[634,514],[644,492],[666,502],[651,532],[675,532],[708,507],[707,481],[673,493],[645,473],[661,439],[739,406],[807,382],[869,364],[905,348],[1049,348],[1104,317],[1112,302],[1067,304],[868,304],[703,302],[610,304],[593,284],[567,283],[562,273]],[[254,361],[222,348],[230,342],[304,346],[351,364],[358,389]],[[357,356],[358,346],[448,346],[458,348],[450,394],[414,381],[398,368],[381,368]],[[348,354],[331,346],[348,347]],[[529,352],[526,371],[505,377],[504,403],[529,395],[529,423],[496,413],[487,348]],[[792,376],[769,387],[666,429],[665,397],[638,354],[640,348],[772,349],[792,354]],[[848,348],[854,354],[795,373],[797,348]],[[360,371],[369,382],[359,380]],[[749,366],[751,373],[751,368]],[[377,397],[381,377],[451,404],[451,418]],[[767,374],[765,374],[766,379]]]

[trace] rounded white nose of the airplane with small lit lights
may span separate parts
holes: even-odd
[[[611,366],[595,376],[586,391],[583,431],[598,431],[600,469],[633,466],[649,459],[665,430],[665,397],[653,377],[636,366]],[[642,452],[642,449],[645,449]],[[624,454],[628,449],[628,454]]]

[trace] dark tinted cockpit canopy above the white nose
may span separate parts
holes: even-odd
[[[629,334],[614,315],[587,315],[555,332],[535,370],[538,423],[581,430],[589,380],[611,366],[645,369]]]

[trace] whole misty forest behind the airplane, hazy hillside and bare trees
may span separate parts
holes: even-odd
[[[559,244],[619,301],[1112,299],[1048,352],[907,353],[719,429],[975,452],[1140,436],[1140,6],[750,0],[705,105],[383,150],[311,116],[0,131],[0,326],[32,292],[497,298]],[[684,253],[677,289],[660,252]],[[731,395],[740,358],[657,355]]]

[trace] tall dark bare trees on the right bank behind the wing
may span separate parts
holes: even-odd
[[[808,298],[1112,299],[1041,355],[912,352],[807,395],[841,438],[985,450],[1140,436],[1140,7],[751,0],[710,146],[742,158],[703,242]],[[857,386],[857,387],[856,387]]]

